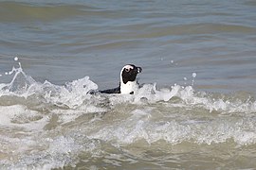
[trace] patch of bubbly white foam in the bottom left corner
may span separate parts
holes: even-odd
[[[57,137],[45,135],[45,133],[38,135],[37,139],[31,136],[25,137],[23,140],[7,139],[10,144],[13,144],[10,149],[14,150],[12,154],[15,154],[15,158],[12,157],[9,161],[1,160],[2,167],[9,169],[52,169],[62,168],[66,164],[75,167],[80,152],[93,153],[97,152],[97,148],[101,148],[99,141],[89,140],[76,133]]]

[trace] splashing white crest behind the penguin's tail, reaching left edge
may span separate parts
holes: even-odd
[[[84,99],[90,98],[88,92],[98,89],[98,85],[92,82],[89,76],[68,82],[64,86],[48,81],[40,83],[27,76],[21,65],[19,68],[13,67],[8,75],[13,75],[12,80],[7,84],[0,84],[0,96],[15,95],[27,98],[33,94],[43,95],[46,102],[57,106],[81,106]]]

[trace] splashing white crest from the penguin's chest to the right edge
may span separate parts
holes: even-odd
[[[200,106],[212,112],[213,110],[221,112],[254,112],[256,111],[256,102],[248,100],[242,101],[237,98],[234,101],[225,99],[220,96],[213,98],[208,93],[195,92],[192,86],[174,85],[171,89],[156,89],[156,84],[145,84],[134,98],[134,102],[140,101],[158,102],[170,101],[172,98],[178,97],[187,107]]]

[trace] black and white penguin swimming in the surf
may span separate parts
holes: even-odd
[[[100,93],[135,93],[138,89],[137,74],[141,72],[141,67],[137,67],[134,64],[125,65],[120,71],[119,87],[115,89],[100,91]]]

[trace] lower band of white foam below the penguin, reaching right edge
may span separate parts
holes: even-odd
[[[139,115],[130,116],[119,124],[102,127],[90,138],[101,139],[115,144],[133,144],[141,140],[148,144],[165,141],[169,144],[192,142],[197,144],[219,144],[233,140],[237,144],[256,144],[256,128],[249,125],[255,119],[217,118],[208,121],[153,121],[152,112],[135,110]],[[143,112],[141,114],[141,111]]]

